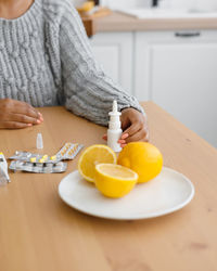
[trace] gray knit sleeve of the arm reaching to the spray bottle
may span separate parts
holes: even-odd
[[[95,124],[106,126],[113,100],[119,109],[142,107],[107,77],[93,57],[81,20],[65,0],[60,25],[60,55],[66,108]]]

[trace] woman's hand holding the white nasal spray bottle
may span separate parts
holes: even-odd
[[[148,124],[144,115],[135,108],[125,108],[120,116],[123,134],[119,139],[120,146],[133,141],[149,141]],[[106,140],[106,134],[103,139]]]

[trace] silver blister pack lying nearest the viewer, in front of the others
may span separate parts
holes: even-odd
[[[9,168],[13,171],[26,171],[34,173],[61,173],[66,171],[67,163],[59,162],[56,164],[46,164],[12,160]]]

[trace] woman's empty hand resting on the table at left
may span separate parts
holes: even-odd
[[[0,128],[20,129],[42,121],[42,115],[31,105],[12,99],[0,100]]]

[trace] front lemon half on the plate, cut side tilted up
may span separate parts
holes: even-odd
[[[137,180],[138,175],[129,168],[114,164],[95,166],[95,186],[107,197],[125,196],[133,189]]]

